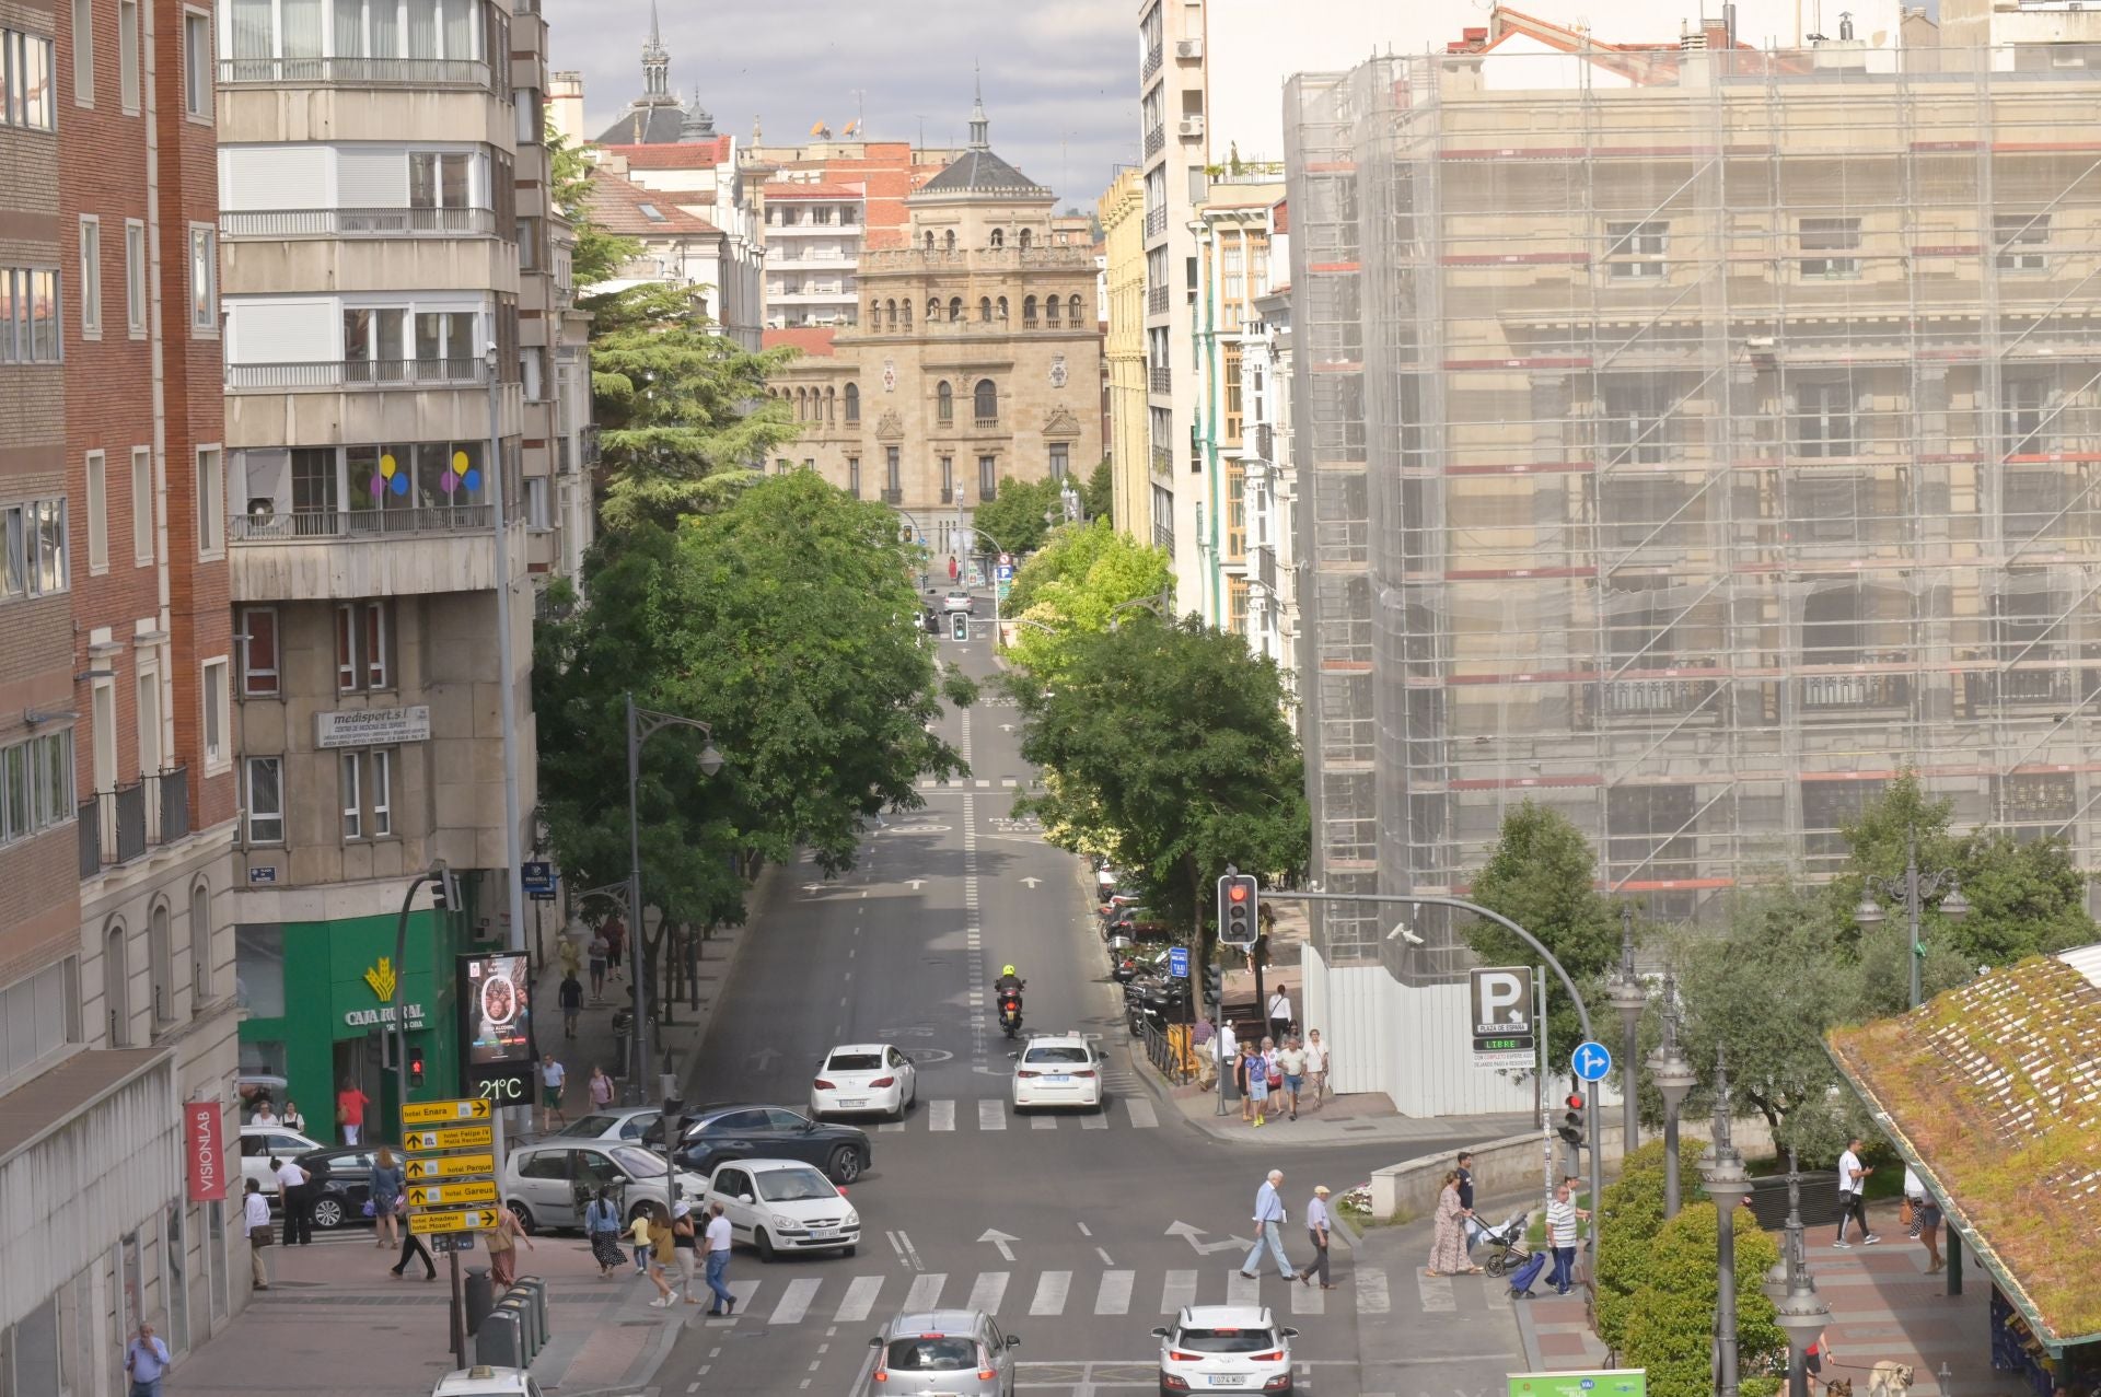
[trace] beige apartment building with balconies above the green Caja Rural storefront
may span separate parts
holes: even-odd
[[[546,363],[574,345],[544,29],[529,0],[229,0],[219,53],[242,1065],[307,1103],[357,1082],[384,1128],[393,981],[450,1094],[454,954],[511,931],[532,580],[576,555],[527,487],[576,439]],[[437,859],[469,905],[418,905],[395,964],[405,880]]]

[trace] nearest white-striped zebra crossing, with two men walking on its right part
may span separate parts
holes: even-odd
[[[1378,1267],[1338,1269],[1336,1290],[1292,1286],[1275,1275],[1250,1281],[1237,1263],[1162,1273],[1107,1267],[1084,1271],[920,1271],[910,1275],[737,1277],[735,1319],[758,1317],[767,1328],[798,1323],[864,1323],[876,1315],[943,1307],[981,1309],[987,1315],[1057,1319],[1061,1315],[1174,1315],[1189,1305],[1263,1305],[1298,1317],[1389,1313],[1387,1273]],[[1284,1292],[1284,1294],[1280,1294]],[[735,1323],[723,1319],[721,1323]]]

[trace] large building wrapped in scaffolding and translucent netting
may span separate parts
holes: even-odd
[[[1288,86],[1330,891],[1462,889],[1532,798],[1698,918],[1906,767],[2095,861],[2093,50],[1727,40]],[[1416,931],[1317,918],[1309,1013],[1464,1013]]]

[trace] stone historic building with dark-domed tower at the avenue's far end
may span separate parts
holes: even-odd
[[[857,326],[767,332],[805,351],[773,376],[805,422],[775,468],[899,508],[937,563],[966,550],[971,510],[1004,477],[1101,460],[1090,239],[1055,227],[1050,191],[987,128],[979,103],[969,149],[908,195],[906,246],[861,252]]]

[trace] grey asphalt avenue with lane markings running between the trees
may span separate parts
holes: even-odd
[[[990,624],[941,658],[992,674]],[[1158,1391],[1149,1336],[1177,1307],[1254,1298],[1301,1330],[1301,1391],[1355,1393],[1357,1311],[1385,1321],[1406,1277],[1353,1277],[1338,1290],[1235,1275],[1267,1168],[1286,1172],[1290,1216],[1315,1183],[1336,1191],[1393,1162],[1391,1145],[1229,1149],[1139,1080],[1074,855],[1013,819],[1032,773],[1019,716],[987,704],[945,718],[971,758],[966,781],[922,790],[920,811],[885,817],[851,874],[805,866],[792,901],[744,947],[710,1027],[689,1097],[805,1109],[811,1069],[834,1042],[895,1042],[920,1061],[903,1124],[868,1124],[874,1166],[853,1185],[857,1256],[758,1263],[737,1250],[733,1319],[681,1307],[685,1332],[658,1391],[859,1393],[868,1338],[906,1307],[977,1305],[1021,1336],[1025,1391]],[[1099,1034],[1111,1055],[1101,1115],[1017,1118],[1006,1105],[1008,1042],[992,1023],[990,981],[1004,962],[1027,979],[1029,1029]],[[1456,1147],[1458,1141],[1452,1141]],[[1414,1153],[1445,1147],[1424,1141]],[[1179,1235],[1177,1225],[1202,1235]],[[1174,1229],[1174,1231],[1170,1231]],[[983,1239],[987,1231],[1002,1239]],[[1305,1233],[1286,1229],[1294,1260]],[[641,1311],[653,1313],[653,1311]],[[698,1384],[689,1389],[687,1384]]]

